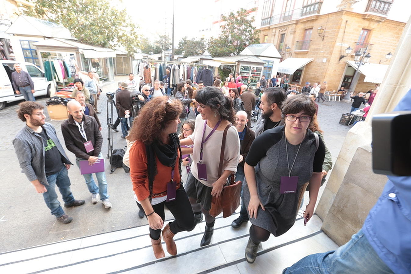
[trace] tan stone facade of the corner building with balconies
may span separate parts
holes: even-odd
[[[381,16],[369,16],[352,11],[337,11],[329,14],[313,15],[299,20],[293,20],[275,25],[262,27],[260,30],[261,42],[268,35],[268,43],[279,46],[281,33],[286,33],[284,47],[290,46],[290,53],[280,52],[283,58],[313,58],[313,61],[305,66],[301,84],[305,82],[328,82],[328,90],[338,90],[344,76],[347,60],[354,59],[354,53],[339,60],[341,55],[346,55],[348,46],[355,48],[354,42],[358,40],[360,31],[371,30],[368,43],[373,43],[371,50],[371,63],[378,64],[380,60],[386,60],[385,55],[395,52],[398,41],[404,30],[405,23],[385,19]],[[324,27],[324,41],[317,34],[317,28]],[[295,51],[296,41],[304,39],[304,31],[312,28],[311,42],[307,51]],[[383,62],[382,64],[389,64]],[[374,83],[363,82],[361,75],[358,88],[368,91]],[[368,88],[368,89],[367,89]],[[357,90],[357,89],[356,89]]]

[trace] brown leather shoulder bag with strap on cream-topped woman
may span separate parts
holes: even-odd
[[[224,129],[223,140],[221,144],[221,153],[220,153],[220,163],[218,166],[218,178],[220,178],[223,171],[223,160],[224,160],[224,147],[226,145],[227,131],[233,125],[228,125]],[[210,215],[217,217],[221,212],[223,212],[223,218],[231,216],[234,211],[240,205],[240,194],[241,194],[241,181],[235,182],[234,174],[231,174],[230,181],[228,185],[223,187],[223,191],[220,196],[212,197]]]

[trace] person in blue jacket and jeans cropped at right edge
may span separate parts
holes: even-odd
[[[411,89],[394,111],[411,110]],[[363,227],[335,251],[302,258],[284,274],[411,273],[411,176],[388,176]]]

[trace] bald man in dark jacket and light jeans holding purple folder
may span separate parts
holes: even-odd
[[[96,119],[85,115],[83,107],[76,100],[67,103],[69,119],[61,125],[64,142],[69,151],[76,155],[76,164],[80,167],[80,161],[87,160],[91,166],[97,161],[102,161],[103,137]],[[83,174],[85,183],[91,193],[91,202],[102,201],[104,208],[111,208],[109,195],[107,194],[107,180],[104,171],[95,172],[98,186],[92,174]]]

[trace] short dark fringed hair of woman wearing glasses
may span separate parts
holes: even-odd
[[[285,100],[281,107],[281,115],[283,118],[286,114],[296,114],[299,112],[304,112],[304,114],[312,117],[316,111],[315,103],[307,94],[291,96]]]

